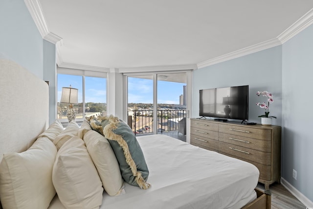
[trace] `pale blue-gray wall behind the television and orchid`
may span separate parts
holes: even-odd
[[[282,121],[282,46],[276,46],[232,59],[223,63],[194,70],[192,89],[192,117],[199,117],[199,90],[249,85],[249,121],[260,123],[258,117],[264,109],[256,106],[265,102],[265,97],[256,95],[257,91],[268,91],[273,94],[274,102],[269,106],[273,124],[281,125]],[[240,121],[241,122],[241,121]]]

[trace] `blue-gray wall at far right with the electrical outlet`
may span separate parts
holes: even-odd
[[[282,63],[282,176],[313,201],[313,25],[283,45]]]

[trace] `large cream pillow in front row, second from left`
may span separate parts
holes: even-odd
[[[73,137],[58,151],[52,181],[67,209],[93,209],[102,204],[103,187],[83,139]]]

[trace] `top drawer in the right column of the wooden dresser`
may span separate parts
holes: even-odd
[[[219,125],[219,132],[261,140],[271,140],[271,130],[236,125]]]

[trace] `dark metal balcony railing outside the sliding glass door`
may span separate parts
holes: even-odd
[[[156,132],[176,131],[186,110],[157,110]],[[128,125],[135,134],[153,133],[153,110],[128,111]]]

